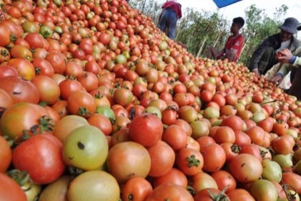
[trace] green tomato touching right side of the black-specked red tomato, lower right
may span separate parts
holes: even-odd
[[[264,159],[262,162],[262,178],[267,179],[269,181],[276,181],[279,183],[282,178],[282,172],[280,165],[269,159]]]

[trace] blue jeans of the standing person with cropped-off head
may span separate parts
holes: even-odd
[[[172,9],[166,9],[161,16],[158,28],[163,32],[168,28],[168,37],[175,39],[177,20],[176,12]]]

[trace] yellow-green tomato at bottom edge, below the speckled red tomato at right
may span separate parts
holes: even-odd
[[[265,180],[265,179],[259,179],[257,181],[254,181],[249,189],[251,195],[256,200],[277,200],[278,198],[278,191],[276,187],[273,185],[272,182]]]

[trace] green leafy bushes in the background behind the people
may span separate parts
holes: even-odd
[[[157,24],[162,11],[162,2],[156,0],[131,0],[130,5],[149,16]],[[288,7],[282,5],[275,10],[273,18],[267,17],[264,10],[251,5],[245,10],[245,26],[242,34],[245,44],[239,62],[248,65],[256,47],[269,35],[279,31],[284,21]],[[183,17],[178,21],[176,40],[185,43],[188,51],[198,57],[205,57],[207,47],[214,45],[222,49],[230,35],[231,21],[227,21],[219,13],[205,10],[186,9]]]

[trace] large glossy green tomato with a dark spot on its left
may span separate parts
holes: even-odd
[[[83,170],[99,169],[108,155],[108,141],[94,126],[73,130],[63,145],[63,159],[67,165]]]

